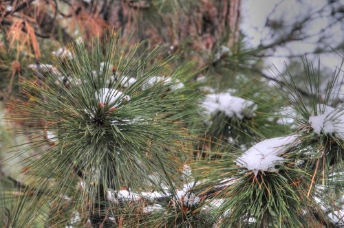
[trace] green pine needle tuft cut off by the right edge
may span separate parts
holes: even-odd
[[[321,83],[320,66],[316,70],[307,58],[303,58],[303,67],[308,79],[308,83],[304,87],[309,96],[305,98],[301,95],[291,74],[289,77],[292,79],[292,84],[286,86],[286,91],[281,92],[281,95],[289,100],[294,110],[297,111],[297,116],[290,115],[290,117],[294,118],[301,139],[299,159],[307,161],[304,166],[314,173],[316,183],[329,186],[334,180],[330,176],[336,174],[337,179],[333,185],[338,187],[342,185],[343,181],[343,176],[338,177],[338,173],[343,169],[343,139],[334,133],[326,133],[323,129],[321,129],[321,133],[316,133],[310,123],[310,117],[323,114],[327,109],[326,106],[336,108],[341,89],[341,86],[338,86],[341,84],[339,81],[341,67],[336,69],[325,89],[321,88],[323,83]],[[281,79],[283,82],[287,82],[286,78]],[[340,120],[336,120],[336,118],[340,117],[342,110],[342,107],[338,106],[338,114],[334,112],[333,117],[330,118],[339,122]]]

